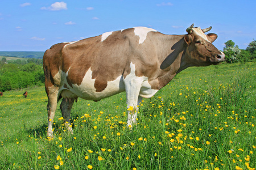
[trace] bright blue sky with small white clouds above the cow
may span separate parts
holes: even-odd
[[[256,39],[255,7],[255,0],[0,0],[0,51],[45,51],[58,42],[138,26],[181,35],[192,23],[212,26],[220,50],[228,40],[246,49]]]

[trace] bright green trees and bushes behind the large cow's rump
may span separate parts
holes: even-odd
[[[42,59],[31,58],[27,61],[16,59],[0,62],[0,91],[16,90],[29,86],[42,86],[44,71]]]

